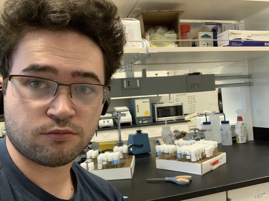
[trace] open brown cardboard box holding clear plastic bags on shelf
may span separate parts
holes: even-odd
[[[163,25],[169,30],[174,29],[180,39],[179,16],[184,11],[147,11],[142,12],[135,18],[140,21],[141,36],[146,39],[145,32],[153,27]]]

